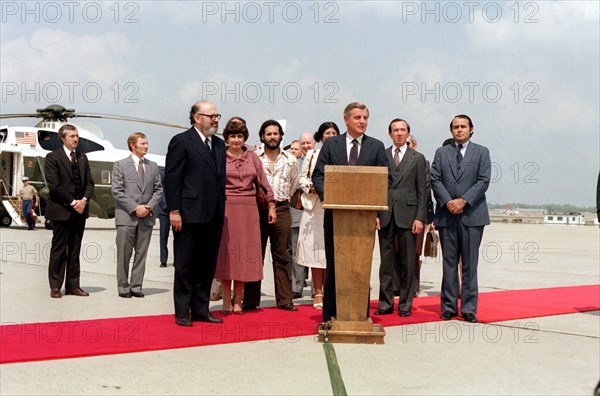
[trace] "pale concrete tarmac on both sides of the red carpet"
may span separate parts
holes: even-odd
[[[159,268],[158,228],[143,299],[117,295],[112,220],[90,219],[81,286],[90,297],[51,299],[51,231],[0,230],[2,324],[173,313],[173,267]],[[488,226],[480,292],[600,283],[600,232],[591,226]],[[275,305],[270,257],[263,306]],[[371,297],[378,292],[375,247]],[[426,259],[423,295],[439,295],[441,258]],[[311,303],[309,288],[296,303]],[[211,304],[213,309],[221,302]],[[227,320],[227,319],[225,319]],[[600,311],[469,324],[386,327],[384,345],[334,344],[352,395],[591,395],[600,380]],[[0,365],[2,395],[329,395],[322,344],[295,337],[237,344]]]

